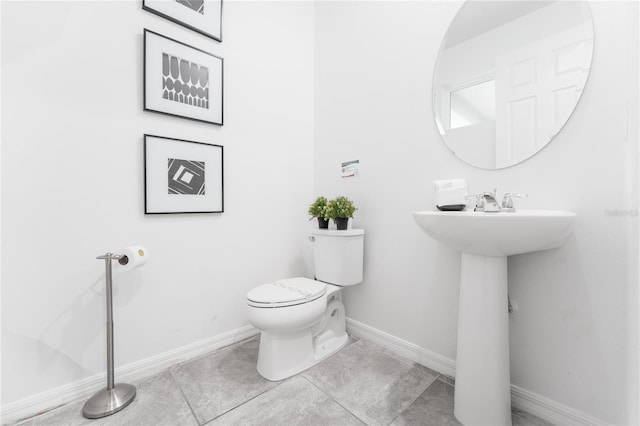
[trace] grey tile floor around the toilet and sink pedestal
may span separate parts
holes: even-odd
[[[253,338],[134,383],[136,399],[98,420],[84,401],[19,423],[76,425],[459,425],[453,382],[373,343],[359,340],[280,382],[256,371]],[[549,426],[513,411],[514,426]]]

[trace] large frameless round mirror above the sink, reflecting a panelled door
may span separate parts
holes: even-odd
[[[530,158],[571,116],[592,54],[586,1],[465,2],[433,77],[442,138],[458,158],[482,169]]]

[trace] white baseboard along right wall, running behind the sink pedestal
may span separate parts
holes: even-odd
[[[347,330],[355,337],[369,340],[383,348],[424,365],[440,374],[455,377],[456,362],[450,358],[428,351],[418,345],[399,339],[359,321],[347,318]],[[554,425],[606,425],[605,421],[575,410],[559,402],[511,385],[511,405],[540,417]]]

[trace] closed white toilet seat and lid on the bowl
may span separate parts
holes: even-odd
[[[262,284],[247,293],[247,303],[257,308],[283,308],[312,302],[327,292],[321,281],[304,277]]]

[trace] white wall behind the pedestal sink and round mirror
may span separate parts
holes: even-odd
[[[590,2],[593,67],[572,119],[534,158],[484,171],[447,150],[431,109],[434,63],[460,4],[316,5],[315,193],[352,198],[367,233],[365,281],[346,291],[347,314],[455,359],[460,256],[411,212],[434,208],[436,179],[528,193],[521,208],[578,221],[563,248],[509,259],[512,383],[637,423],[638,5]],[[341,179],[340,162],[354,159],[360,176]]]

